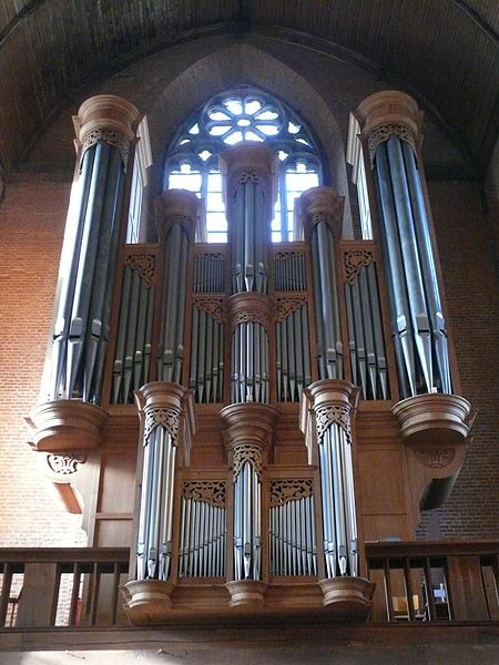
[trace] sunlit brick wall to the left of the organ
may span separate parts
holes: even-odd
[[[23,421],[38,402],[70,184],[9,183],[0,204],[0,545],[84,545],[37,468]]]

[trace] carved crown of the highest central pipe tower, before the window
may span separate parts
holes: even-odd
[[[232,198],[234,192],[241,185],[253,182],[257,183],[272,206],[276,194],[277,156],[265,143],[243,142],[223,152],[220,156],[221,172],[224,187],[225,203],[228,196]]]

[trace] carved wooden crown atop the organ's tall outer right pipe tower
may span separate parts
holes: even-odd
[[[416,152],[421,137],[422,111],[405,92],[384,90],[364,100],[354,112],[360,136],[366,140],[373,163],[377,146],[391,135],[399,136]],[[352,130],[352,127],[350,127]]]

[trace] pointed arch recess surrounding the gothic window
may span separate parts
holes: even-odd
[[[218,49],[186,68],[147,110],[154,173],[153,194],[160,194],[169,143],[187,114],[214,94],[248,84],[281,98],[294,109],[318,139],[328,170],[328,182],[345,196],[344,236],[353,236],[342,133],[330,109],[318,92],[284,62],[245,43]]]

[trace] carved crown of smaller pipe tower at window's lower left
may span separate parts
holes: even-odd
[[[172,224],[180,224],[194,242],[197,217],[200,215],[200,200],[194,192],[187,190],[165,190],[154,201],[156,226],[160,239],[164,239]]]

